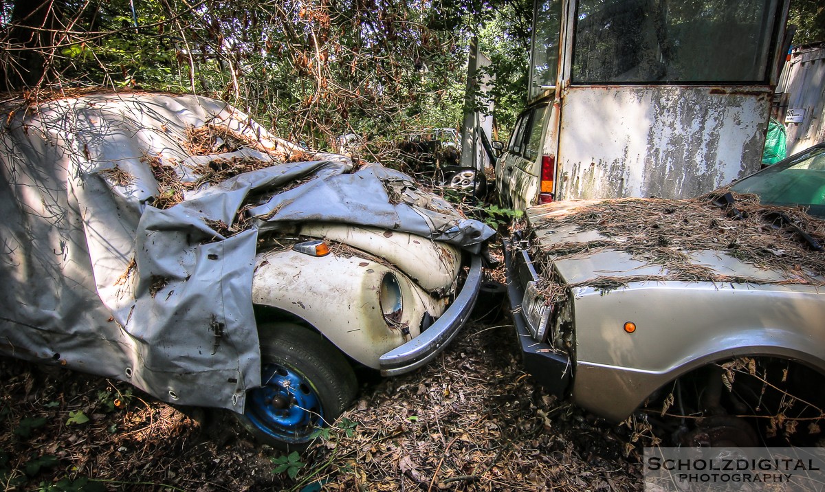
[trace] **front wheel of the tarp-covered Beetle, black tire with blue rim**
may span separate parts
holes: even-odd
[[[355,373],[318,333],[290,323],[259,327],[262,387],[247,392],[241,424],[261,443],[304,451],[356,395]]]

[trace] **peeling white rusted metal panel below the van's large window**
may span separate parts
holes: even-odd
[[[558,199],[690,198],[760,166],[768,87],[566,87]]]

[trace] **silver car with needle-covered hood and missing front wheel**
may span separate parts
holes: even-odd
[[[614,422],[672,416],[675,443],[817,438],[823,218],[825,144],[698,199],[528,209],[506,255],[528,372]]]

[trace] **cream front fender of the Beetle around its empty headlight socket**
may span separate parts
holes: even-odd
[[[386,274],[394,274],[403,298],[400,319],[392,323],[380,305]],[[437,317],[446,309],[446,299],[432,298],[398,269],[375,260],[292,250],[257,255],[252,302],[298,316],[344,354],[376,369],[382,354],[419,335],[425,313]]]

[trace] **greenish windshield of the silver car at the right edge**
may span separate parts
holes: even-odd
[[[763,204],[802,205],[825,218],[825,146],[810,148],[770,166],[731,187],[755,193]]]

